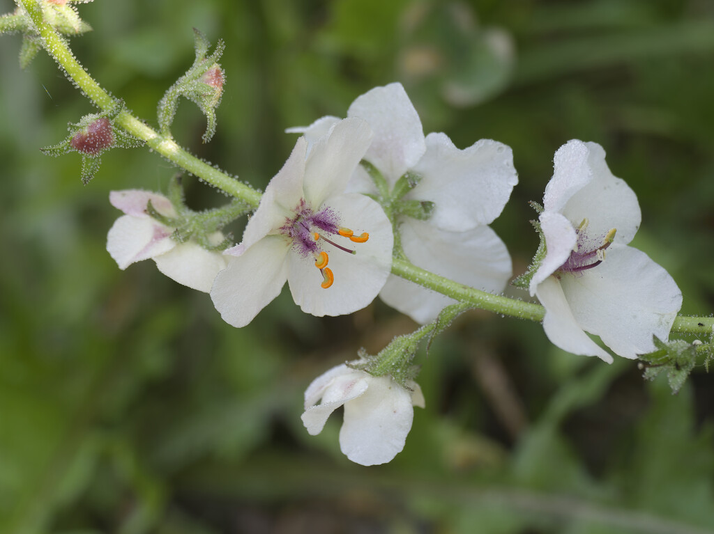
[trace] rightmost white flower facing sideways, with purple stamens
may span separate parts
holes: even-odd
[[[568,141],[555,153],[540,228],[545,257],[531,296],[545,307],[543,328],[553,344],[574,354],[635,358],[667,340],[682,293],[674,279],[640,250],[628,247],[640,227],[635,192],[615,178],[597,143]]]

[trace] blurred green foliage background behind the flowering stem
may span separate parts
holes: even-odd
[[[597,141],[640,199],[634,245],[673,274],[683,312],[714,311],[712,1],[79,8],[94,31],[76,55],[152,124],[193,61],[191,28],[226,41],[215,138],[201,144],[186,101],[174,133],[256,187],[295,141],[285,128],[391,81],[426,132],[511,145],[521,183],[494,227],[516,273],[554,151]],[[309,382],[415,325],[381,302],[318,319],[283,292],[233,329],[153,262],[119,271],[109,191],[162,190],[176,170],[114,150],[84,187],[79,155],[41,155],[94,109],[43,53],[21,71],[20,43],[1,36],[0,533],[714,532],[714,374],[695,369],[673,396],[632,361],[555,349],[538,324],[472,312],[442,334],[420,359],[427,407],[386,466],[342,456],[340,414],[308,436]],[[223,201],[186,182],[193,207]]]

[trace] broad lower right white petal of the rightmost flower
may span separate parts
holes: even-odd
[[[682,306],[682,293],[663,267],[618,243],[600,265],[560,283],[580,326],[625,358],[655,350],[653,334],[668,339]]]

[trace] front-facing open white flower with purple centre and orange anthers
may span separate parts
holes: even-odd
[[[371,135],[352,118],[309,155],[298,139],[213,283],[211,298],[226,322],[251,322],[286,280],[303,312],[318,316],[355,312],[377,296],[391,270],[391,224],[377,202],[344,192]]]

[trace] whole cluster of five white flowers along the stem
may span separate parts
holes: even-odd
[[[201,83],[216,81],[222,89],[220,70],[201,75]],[[288,131],[303,135],[238,245],[229,247],[220,229],[243,212],[210,219],[179,206],[176,195],[129,190],[111,194],[126,215],[109,231],[107,249],[121,269],[152,258],[169,277],[210,292],[234,327],[250,323],[286,282],[303,312],[316,316],[349,314],[379,295],[426,324],[420,335],[396,338],[381,353],[406,355],[398,364],[378,355],[368,366],[339,365],[305,393],[308,433],[320,433],[343,406],[343,453],[365,466],[385,463],[404,446],[413,406],[424,406],[416,371],[408,367],[415,340],[443,329],[439,321],[448,322],[444,314],[454,307],[444,308],[455,302],[391,274],[393,255],[502,292],[511,257],[488,225],[518,183],[513,155],[493,140],[461,150],[443,133],[425,136],[398,83],[358,97],[347,118],[323,117]],[[628,246],[640,208],[635,193],[610,173],[600,145],[573,140],[555,153],[538,210],[541,244],[514,283],[543,304],[548,339],[605,361],[613,357],[588,333],[625,358],[655,350],[655,337],[666,341],[682,294],[663,267]],[[213,220],[203,232],[196,230],[201,217]],[[452,312],[451,318],[460,313]]]

